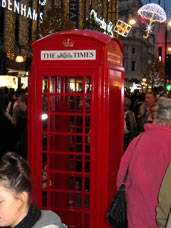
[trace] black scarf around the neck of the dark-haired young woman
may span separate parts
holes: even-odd
[[[31,228],[40,218],[41,210],[34,204],[31,204],[28,214],[14,228]]]

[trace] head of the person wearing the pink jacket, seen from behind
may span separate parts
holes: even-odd
[[[154,123],[171,127],[171,99],[161,97],[158,100],[158,114]]]

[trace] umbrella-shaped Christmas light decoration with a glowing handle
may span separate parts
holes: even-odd
[[[150,3],[142,6],[138,10],[138,14],[142,18],[149,20],[149,25],[147,27],[147,34],[143,36],[144,39],[148,38],[148,35],[151,31],[151,25],[153,22],[163,23],[167,19],[164,9],[155,3]]]

